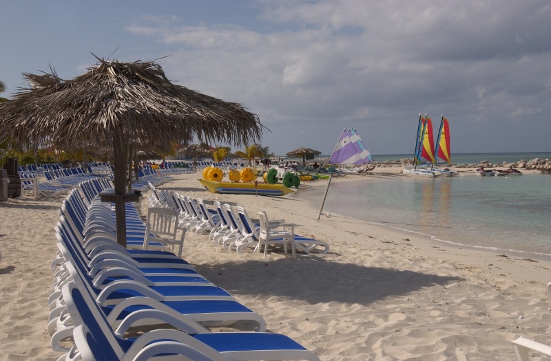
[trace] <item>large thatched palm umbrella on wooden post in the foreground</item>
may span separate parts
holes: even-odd
[[[98,58],[88,72],[72,80],[52,74],[23,74],[30,83],[0,105],[0,142],[70,144],[85,135],[110,144],[114,157],[112,197],[116,202],[117,241],[126,245],[125,162],[133,146],[166,142],[256,140],[263,127],[256,114],[241,105],[174,85],[154,62],[121,63]]]

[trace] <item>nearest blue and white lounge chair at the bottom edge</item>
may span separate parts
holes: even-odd
[[[129,314],[116,330],[86,292],[67,283],[63,286],[76,329],[75,348],[88,360],[145,360],[152,355],[171,352],[183,354],[185,360],[311,360],[319,358],[298,342],[279,333],[208,332],[194,322],[173,320],[162,311],[141,310]],[[174,324],[178,330],[156,329],[138,338],[123,338],[134,321],[140,318],[160,318]],[[76,353],[76,350],[70,351]]]

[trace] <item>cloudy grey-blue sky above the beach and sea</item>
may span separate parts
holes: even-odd
[[[275,155],[329,155],[354,127],[409,154],[419,113],[453,153],[551,151],[548,0],[0,0],[3,98],[23,73],[72,79],[96,58],[156,61],[172,82],[238,102]],[[94,54],[94,55],[92,55]],[[232,146],[232,144],[211,144]],[[377,158],[375,157],[375,160]]]

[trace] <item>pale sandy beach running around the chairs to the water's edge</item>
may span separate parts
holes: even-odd
[[[454,248],[337,215],[318,220],[319,208],[307,200],[326,180],[304,182],[287,198],[208,193],[199,177],[175,175],[158,188],[200,197],[207,206],[245,206],[253,217],[262,208],[331,245],[328,254],[263,259],[187,232],[184,248],[200,274],[264,317],[269,331],[290,336],[321,360],[514,360],[510,341],[519,336],[551,344],[550,261]],[[374,180],[346,175],[332,182],[357,177]],[[147,197],[139,204],[142,215]],[[52,351],[46,326],[62,200],[25,195],[0,202],[0,360],[61,355]]]

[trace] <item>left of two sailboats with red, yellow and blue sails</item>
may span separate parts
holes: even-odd
[[[433,121],[419,114],[419,124],[417,125],[417,137],[415,138],[415,152],[413,153],[413,166],[406,166],[402,171],[408,175],[424,175],[426,177],[435,177],[439,175],[426,166],[421,166],[421,158],[435,164],[435,152],[433,142]]]

